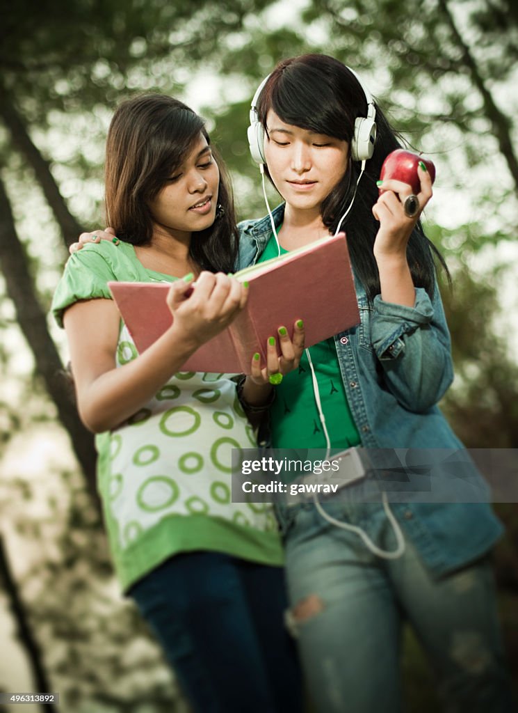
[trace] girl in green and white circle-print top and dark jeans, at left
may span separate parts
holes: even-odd
[[[224,274],[237,231],[218,163],[203,121],[181,102],[122,103],[106,152],[107,218],[122,242],[72,255],[53,311],[68,337],[80,416],[97,434],[117,574],[192,706],[296,712],[300,679],[282,623],[275,519],[268,508],[231,502],[231,448],[253,444],[250,426],[231,375],[180,371],[247,298]],[[110,280],[171,282],[174,323],[142,354],[110,299]]]

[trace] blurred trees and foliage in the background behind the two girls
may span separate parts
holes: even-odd
[[[518,448],[518,6],[18,0],[1,4],[0,40],[0,605],[9,610],[0,626],[12,620],[34,689],[59,691],[60,709],[181,713],[157,647],[118,595],[93,440],[63,375],[63,334],[48,318],[67,245],[104,225],[112,111],[142,91],[184,98],[226,158],[240,217],[258,217],[246,125],[259,81],[307,51],[359,71],[438,168],[427,229],[453,275],[443,297],[457,373],[443,409],[467,446]],[[497,509],[507,525],[495,552],[499,600],[518,678],[518,508]],[[9,656],[4,645],[6,671]],[[405,679],[411,710],[437,710],[410,635]],[[0,675],[0,689],[11,686]]]

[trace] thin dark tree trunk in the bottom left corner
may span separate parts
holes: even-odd
[[[18,594],[18,587],[11,573],[11,568],[9,566],[9,560],[7,558],[6,548],[4,545],[4,540],[0,536],[0,580],[4,583],[4,590],[9,600],[9,606],[11,612],[16,620],[16,625],[18,628],[17,634],[23,649],[26,652],[29,663],[31,665],[31,672],[33,674],[34,682],[34,692],[38,693],[51,693],[52,687],[51,682],[49,682],[43,665],[43,658],[41,656],[41,649],[38,642],[33,637],[31,627],[28,622],[28,617],[23,607],[23,602],[20,595]],[[4,654],[6,654],[6,649],[4,647]],[[41,710],[43,713],[58,713],[58,708],[53,704],[41,705]]]

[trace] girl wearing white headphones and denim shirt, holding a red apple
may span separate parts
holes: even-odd
[[[419,220],[432,197],[430,176],[422,163],[417,202],[397,180],[384,181],[379,196],[381,164],[398,140],[355,73],[328,56],[280,62],[258,89],[250,120],[253,158],[283,202],[240,224],[241,266],[342,228],[361,313],[358,327],[307,349],[296,369],[282,355],[253,362],[241,391],[257,411],[272,398],[265,379],[283,375],[269,409],[273,448],[360,453],[358,481],[336,496],[277,504],[290,622],[317,710],[400,711],[408,622],[448,711],[508,712],[488,558],[502,526],[485,498],[401,496],[389,506],[386,496],[366,497],[366,453],[401,448],[411,459],[421,451],[428,470],[437,449],[462,453],[436,405],[453,371],[434,257],[445,265]],[[457,471],[485,492],[469,457],[460,461]]]

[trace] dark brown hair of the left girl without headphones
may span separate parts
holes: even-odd
[[[120,240],[149,244],[149,202],[189,155],[200,133],[210,144],[203,119],[164,94],[137,96],[117,107],[106,143],[105,207],[107,224]],[[238,251],[232,190],[223,160],[214,149],[212,153],[220,173],[218,204],[223,215],[219,210],[213,225],[194,233],[189,255],[202,270],[231,272]]]

